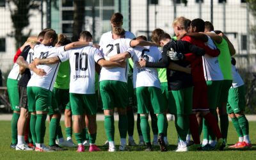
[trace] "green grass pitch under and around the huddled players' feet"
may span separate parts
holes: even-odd
[[[118,138],[118,127],[115,123],[115,141],[119,144]],[[155,147],[153,152],[144,152],[145,147],[130,147],[130,151],[125,152],[107,152],[108,148],[104,147],[103,144],[106,141],[106,135],[104,132],[103,122],[98,122],[98,134],[97,134],[97,145],[102,149],[102,152],[84,152],[77,153],[76,149],[68,149],[63,152],[22,152],[15,151],[10,148],[11,131],[10,121],[0,121],[1,134],[0,134],[0,159],[255,159],[256,157],[256,122],[250,122],[250,137],[253,143],[253,147],[247,150],[231,150],[225,149],[224,151],[211,151],[211,152],[182,152],[176,153],[172,150],[175,149],[177,143],[177,134],[173,121],[169,122],[168,127],[168,141],[170,146],[168,152],[160,152],[159,147]],[[47,145],[49,140],[49,132],[45,134],[45,144]],[[61,123],[63,127],[63,123]],[[136,127],[135,127],[136,128]],[[64,127],[62,128],[64,129]],[[65,130],[63,130],[65,131]],[[63,132],[65,135],[65,132]],[[138,133],[134,129],[134,138],[138,142]],[[73,138],[75,141],[75,139]],[[232,124],[229,125],[228,130],[228,144],[236,143],[238,140],[236,131]],[[86,148],[88,150],[88,148]]]

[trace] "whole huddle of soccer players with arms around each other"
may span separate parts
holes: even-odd
[[[244,83],[227,36],[214,30],[211,22],[177,17],[172,24],[175,36],[158,28],[149,42],[145,36],[125,31],[122,23],[122,14],[114,13],[112,31],[101,36],[99,45],[92,43],[88,31],[70,42],[67,36],[44,29],[18,49],[7,80],[13,109],[11,148],[51,152],[77,147],[77,152],[84,152],[86,146],[90,152],[100,151],[95,145],[98,98],[109,152],[116,151],[114,111],[119,117],[119,150],[145,145],[146,151],[152,151],[152,145],[159,145],[162,152],[167,151],[168,113],[175,116],[175,152],[228,147],[228,116],[239,136],[229,147],[252,147],[243,113]],[[134,104],[138,144],[133,138]],[[67,140],[60,126],[63,109]],[[47,115],[49,147],[44,145]]]

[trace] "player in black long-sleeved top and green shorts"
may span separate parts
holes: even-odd
[[[188,144],[186,143],[186,136],[189,129],[189,114],[192,109],[192,93],[193,93],[193,79],[191,74],[186,69],[171,70],[172,65],[180,65],[181,67],[188,67],[188,61],[171,61],[169,56],[173,52],[179,52],[179,56],[184,58],[184,54],[192,52],[198,56],[202,56],[205,51],[189,42],[184,41],[170,41],[163,47],[162,59],[159,62],[148,62],[140,60],[138,65],[140,67],[154,67],[167,68],[166,75],[168,76],[168,93],[169,97],[169,112],[175,115],[175,127],[179,136],[178,147],[176,152],[188,151]],[[170,68],[169,68],[170,67]]]

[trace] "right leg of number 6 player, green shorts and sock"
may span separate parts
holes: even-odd
[[[161,95],[161,90],[156,87],[148,87],[148,92],[150,95],[150,100],[154,113],[157,115],[157,130],[158,130],[158,143],[160,145],[161,151],[167,151],[164,142],[164,125],[166,116],[164,111],[166,111],[166,105],[163,105],[163,96]],[[165,118],[164,118],[165,117]]]

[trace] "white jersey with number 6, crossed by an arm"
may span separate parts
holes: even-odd
[[[145,58],[150,62],[159,61],[162,56],[161,52],[157,47],[135,47],[133,60],[133,87],[138,88],[140,86],[155,86],[161,88],[161,84],[158,78],[157,68],[138,68],[136,66],[136,61],[139,61],[140,58]]]

